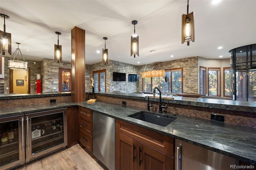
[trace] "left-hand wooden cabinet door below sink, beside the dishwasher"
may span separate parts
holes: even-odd
[[[116,170],[138,170],[138,142],[116,132]]]

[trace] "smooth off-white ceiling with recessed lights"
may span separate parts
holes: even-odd
[[[133,65],[193,56],[230,58],[230,49],[256,43],[256,0],[220,0],[215,4],[212,0],[190,0],[195,41],[189,46],[181,43],[181,16],[186,9],[187,0],[0,0],[0,13],[10,17],[5,23],[6,32],[12,34],[12,52],[19,42],[24,58],[32,61],[54,59],[56,31],[61,32],[62,60],[71,61],[74,26],[85,30],[86,64],[102,61],[103,37],[108,38],[109,59]],[[132,20],[138,21],[140,53],[136,58],[130,56]],[[3,25],[0,17],[2,31]]]

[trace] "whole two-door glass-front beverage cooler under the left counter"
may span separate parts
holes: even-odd
[[[67,109],[0,118],[0,169],[15,168],[67,146]]]

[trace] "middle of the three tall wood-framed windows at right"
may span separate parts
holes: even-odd
[[[220,96],[220,68],[208,68],[208,95]]]

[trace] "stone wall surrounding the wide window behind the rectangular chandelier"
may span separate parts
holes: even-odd
[[[189,57],[184,59],[176,59],[172,61],[164,61],[160,63],[138,66],[138,73],[142,77],[142,71],[176,69],[183,68],[183,93],[198,94],[198,57]],[[141,79],[140,79],[141,80]],[[142,90],[142,81],[139,81],[140,91]]]

